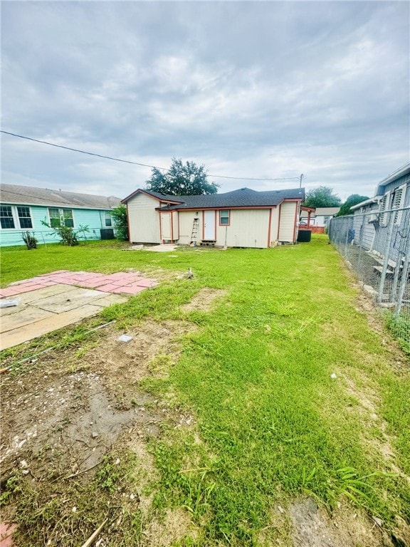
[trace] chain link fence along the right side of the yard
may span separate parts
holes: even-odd
[[[335,217],[328,235],[410,350],[410,207]]]

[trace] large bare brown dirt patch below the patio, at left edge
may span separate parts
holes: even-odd
[[[161,418],[140,405],[122,410],[96,373],[33,370],[4,385],[1,397],[3,476],[29,469],[33,476],[76,474],[101,461],[127,427],[157,434]],[[146,396],[144,396],[146,400]]]

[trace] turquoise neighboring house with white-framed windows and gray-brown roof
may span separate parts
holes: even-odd
[[[119,205],[120,199],[114,196],[0,184],[0,246],[23,245],[21,236],[26,231],[39,244],[58,241],[41,221],[75,230],[88,226],[87,239],[112,239],[111,211]]]

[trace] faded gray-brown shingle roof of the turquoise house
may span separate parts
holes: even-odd
[[[80,209],[112,209],[120,205],[120,198],[61,192],[17,184],[0,185],[1,203],[47,205],[51,207],[78,207]]]

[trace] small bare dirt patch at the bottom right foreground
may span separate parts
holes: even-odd
[[[342,506],[330,517],[311,498],[289,508],[294,547],[387,547],[393,546],[377,523]]]

